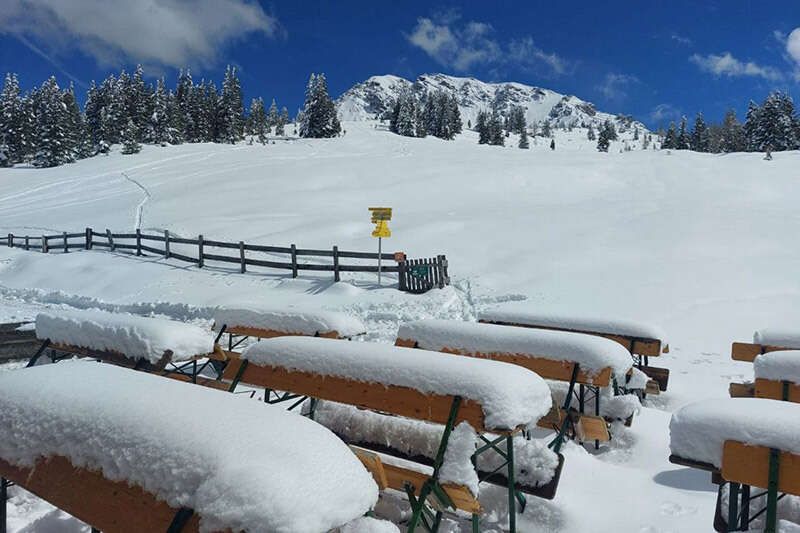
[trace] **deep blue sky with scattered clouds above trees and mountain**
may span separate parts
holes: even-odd
[[[566,7],[566,6],[569,7]],[[794,32],[794,33],[793,33]],[[81,87],[136,63],[174,84],[240,69],[246,97],[294,112],[310,72],[338,96],[374,74],[520,81],[651,127],[800,97],[800,1],[2,0],[0,71]]]

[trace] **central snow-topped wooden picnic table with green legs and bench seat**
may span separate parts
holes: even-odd
[[[379,486],[403,491],[408,496],[412,508],[408,531],[417,528],[437,531],[446,509],[471,514],[473,531],[479,530],[482,508],[477,495],[463,484],[439,479],[451,433],[458,424],[467,422],[476,432],[483,434],[484,445],[476,450],[476,455],[493,451],[504,458],[498,470],[505,471],[509,524],[510,530],[515,531],[516,502],[522,503],[524,498],[515,483],[513,436],[520,434],[526,423],[535,423],[546,412],[549,407],[546,384],[533,373],[525,376],[526,383],[536,389],[533,393],[526,392],[530,405],[523,408],[532,413],[531,420],[509,423],[506,414],[491,411],[479,398],[470,397],[466,392],[454,394],[448,391],[463,389],[464,382],[469,380],[503,391],[508,386],[502,376],[509,372],[516,375],[514,367],[420,350],[409,352],[374,343],[311,337],[272,338],[249,346],[241,358],[230,359],[223,380],[230,383],[231,390],[239,383],[264,387],[265,397],[275,396],[269,403],[292,401],[294,404],[290,409],[308,398],[312,417],[316,402],[326,400],[441,424],[441,439],[435,457],[429,463],[432,473],[380,461],[376,451],[408,459],[402,454],[392,453],[389,447],[372,449],[367,453],[358,449],[371,447],[371,443],[359,442],[357,446],[356,454],[373,473]],[[418,376],[422,383],[417,384],[413,376]],[[431,380],[441,384],[442,391],[431,391]],[[519,377],[515,380],[519,382]],[[510,396],[504,397],[511,400]],[[480,476],[480,472],[478,474]]]

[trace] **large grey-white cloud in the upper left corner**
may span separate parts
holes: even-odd
[[[278,29],[252,0],[0,2],[0,33],[32,36],[49,51],[74,44],[101,64],[209,65],[229,42]]]

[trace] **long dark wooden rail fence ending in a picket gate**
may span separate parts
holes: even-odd
[[[0,241],[2,242],[2,241]],[[242,273],[248,267],[264,267],[279,270],[290,270],[296,278],[300,271],[333,272],[334,281],[341,279],[342,272],[378,272],[378,255],[372,252],[348,252],[333,246],[330,250],[314,250],[298,248],[294,244],[284,246],[263,246],[246,244],[244,241],[225,242],[205,239],[198,235],[196,239],[184,239],[163,234],[96,232],[86,228],[82,233],[61,233],[55,235],[19,236],[9,233],[7,245],[11,248],[38,250],[43,253],[63,252],[71,250],[92,250],[102,248],[112,252],[126,251],[137,256],[153,254],[165,259],[177,259],[203,268],[207,261],[235,264]],[[163,248],[161,248],[161,247]],[[188,250],[187,250],[188,248]],[[187,255],[196,248],[196,253]],[[211,249],[210,253],[208,250]],[[220,250],[217,252],[215,249]],[[228,251],[225,255],[224,251]],[[250,252],[248,254],[248,252]],[[255,253],[265,254],[264,258],[253,257]],[[279,256],[281,261],[272,260],[270,256]],[[326,262],[302,262],[298,258],[330,258]],[[276,258],[277,259],[277,258]],[[367,264],[347,264],[342,260],[366,260]],[[405,254],[380,254],[383,263],[381,271],[398,274],[398,287],[402,291],[423,293],[432,288],[444,288],[450,284],[447,273],[447,259],[443,255],[429,259],[407,260]],[[396,261],[396,259],[400,259]]]

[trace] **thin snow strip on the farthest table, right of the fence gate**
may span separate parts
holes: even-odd
[[[612,335],[624,335],[639,339],[660,340],[666,344],[664,331],[651,324],[642,324],[624,318],[608,318],[600,316],[574,316],[560,313],[537,311],[528,306],[509,305],[494,307],[478,313],[478,320],[486,322],[507,322],[543,328],[560,328],[580,331],[591,331]]]

